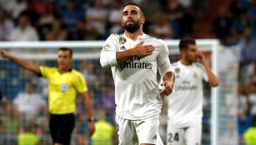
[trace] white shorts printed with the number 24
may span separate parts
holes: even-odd
[[[193,124],[186,128],[168,125],[167,134],[167,145],[200,145],[202,124]]]

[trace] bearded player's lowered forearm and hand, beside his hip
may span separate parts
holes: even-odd
[[[160,91],[160,94],[169,95],[173,92],[173,86],[175,81],[175,75],[173,71],[168,71],[163,75],[163,83],[161,85],[164,85],[165,88]]]

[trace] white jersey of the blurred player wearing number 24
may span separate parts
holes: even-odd
[[[173,93],[168,96],[168,123],[178,128],[201,123],[203,117],[203,80],[208,76],[200,63],[172,64],[176,76]]]

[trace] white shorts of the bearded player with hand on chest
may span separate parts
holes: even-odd
[[[118,145],[138,145],[150,143],[163,145],[159,135],[159,118],[128,120],[116,115]]]

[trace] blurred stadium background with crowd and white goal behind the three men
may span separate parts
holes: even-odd
[[[1,0],[0,48],[38,65],[54,66],[58,47],[74,50],[73,68],[85,75],[96,118],[114,130],[113,79],[99,65],[99,51],[110,33],[122,32],[120,17],[128,0]],[[243,133],[256,114],[256,1],[255,0],[133,0],[145,12],[144,31],[168,43],[170,60],[178,60],[178,39],[198,41],[220,86],[205,85],[203,145],[244,144]],[[150,8],[148,8],[150,7]],[[174,41],[172,41],[174,40]],[[18,144],[18,137],[33,132],[38,144],[52,144],[48,131],[47,82],[9,60],[0,59],[0,144]],[[33,92],[33,94],[31,94]],[[24,100],[21,96],[34,99]],[[6,105],[8,102],[8,105]],[[92,143],[87,138],[86,114],[77,99],[77,128],[73,145]],[[166,106],[161,134],[166,138]],[[105,137],[104,133],[101,138]],[[107,138],[107,137],[106,137]],[[99,138],[95,138],[96,143]],[[106,143],[105,141],[103,141]],[[113,144],[117,138],[113,133]]]

